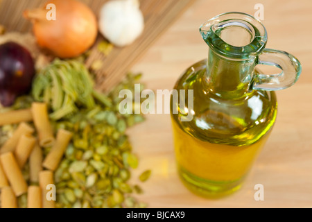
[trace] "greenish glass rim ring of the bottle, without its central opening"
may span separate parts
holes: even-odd
[[[222,26],[221,24],[237,21],[252,29],[254,36],[250,44],[245,46],[233,46],[225,42],[218,33],[216,33],[216,30],[218,30],[216,27]],[[268,40],[266,28],[259,19],[243,12],[226,12],[217,15],[200,26],[200,33],[205,42],[209,44],[210,48],[214,50],[215,53],[226,58],[243,60],[258,56],[263,49],[265,49]]]

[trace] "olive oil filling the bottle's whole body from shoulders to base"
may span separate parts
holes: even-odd
[[[193,107],[188,106],[188,96],[184,107],[171,96],[171,118],[182,182],[200,196],[218,198],[241,187],[270,134],[277,101],[275,92],[211,91],[206,69],[207,60],[198,62],[177,81],[177,91],[193,90]],[[223,78],[214,77],[214,85],[232,88],[236,84],[225,73],[218,75]],[[182,121],[187,112],[192,112],[193,119]]]

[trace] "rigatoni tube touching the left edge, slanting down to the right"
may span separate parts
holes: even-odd
[[[6,174],[6,178],[10,182],[10,185],[15,193],[15,196],[21,196],[27,192],[27,183],[21,174],[21,169],[15,160],[12,152],[4,153],[0,156],[3,171]]]

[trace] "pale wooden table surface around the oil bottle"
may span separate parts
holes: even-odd
[[[291,88],[277,92],[279,110],[268,142],[242,189],[232,196],[209,200],[191,194],[175,168],[169,114],[149,114],[129,131],[144,169],[153,174],[139,198],[149,207],[312,207],[312,2],[198,0],[155,42],[133,67],[142,71],[149,89],[172,89],[182,71],[207,57],[198,27],[223,12],[254,15],[264,6],[268,48],[281,49],[302,62],[302,76]],[[254,185],[264,186],[264,201],[254,200]]]

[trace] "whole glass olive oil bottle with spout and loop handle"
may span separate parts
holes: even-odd
[[[218,198],[239,189],[277,117],[275,90],[293,85],[300,62],[265,49],[266,28],[251,15],[227,12],[200,27],[208,59],[177,80],[171,119],[177,170],[191,191]],[[281,73],[262,74],[257,65]]]

